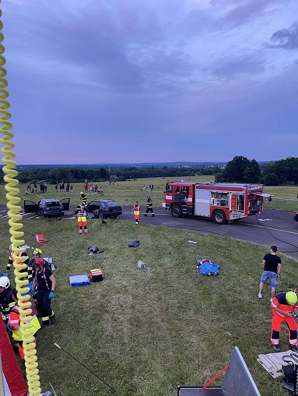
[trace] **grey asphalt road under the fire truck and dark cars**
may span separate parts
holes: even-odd
[[[74,218],[72,211],[75,207],[71,207],[70,211],[65,212],[66,219]],[[224,237],[254,242],[262,246],[276,245],[278,250],[284,252],[296,260],[298,260],[298,248],[288,245],[288,243],[298,246],[298,222],[294,221],[294,213],[276,209],[265,209],[261,214],[257,215],[258,219],[272,219],[271,221],[257,222],[256,217],[252,216],[242,219],[232,224],[217,225],[211,219],[199,219],[192,217],[174,218],[164,208],[154,208],[155,217],[149,214],[147,217],[140,216],[140,224],[154,224],[163,227],[180,228],[192,231],[202,232],[208,235],[220,234]],[[38,218],[34,213],[23,214],[25,219]],[[0,206],[0,219],[8,219],[6,206]],[[121,216],[123,220],[134,222],[131,207],[124,207]],[[93,221],[93,220],[92,220]],[[98,221],[95,219],[94,221]],[[263,227],[266,226],[268,231]],[[276,240],[280,239],[281,241]]]

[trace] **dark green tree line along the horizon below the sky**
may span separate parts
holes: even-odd
[[[46,182],[56,184],[61,180],[69,183],[88,181],[100,182],[111,179],[113,175],[119,181],[150,177],[186,178],[198,175],[214,175],[216,182],[227,183],[262,183],[269,186],[298,185],[298,157],[289,157],[278,161],[271,161],[260,166],[255,159],[235,156],[225,168],[211,167],[138,167],[106,169],[104,167],[85,169],[83,167],[63,168],[30,168],[19,170],[20,183]],[[0,170],[3,181],[3,172]]]

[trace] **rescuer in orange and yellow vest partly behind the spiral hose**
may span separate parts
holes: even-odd
[[[19,352],[21,358],[24,360],[25,355],[24,355],[24,348],[23,348],[23,340],[22,340],[22,334],[20,330],[21,326],[21,320],[20,320],[20,307],[19,307],[19,299],[17,297],[17,290],[13,289],[12,291],[12,298],[15,302],[15,306],[10,312],[10,318],[9,318],[9,327],[10,330],[12,331],[12,338],[15,342],[15,344],[19,347]],[[26,301],[27,302],[27,301]],[[40,322],[38,321],[38,318],[36,317],[35,310],[33,304],[31,305],[32,312],[28,316],[32,316],[32,335],[34,336],[37,331],[41,328]],[[25,310],[29,310],[29,308],[25,308]],[[36,343],[36,340],[34,341]]]

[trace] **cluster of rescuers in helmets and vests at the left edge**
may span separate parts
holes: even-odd
[[[20,272],[26,273],[21,280],[27,279],[29,282],[26,286],[29,291],[23,294],[23,296],[28,296],[26,301],[30,300],[31,297],[36,301],[36,304],[32,303],[31,308],[24,308],[28,310],[28,316],[31,315],[33,317],[31,334],[35,337],[40,328],[56,323],[56,317],[51,308],[51,300],[54,297],[56,280],[51,271],[50,264],[42,257],[43,252],[40,248],[35,248],[33,250],[33,258],[31,259],[28,256],[27,247],[17,246],[17,249],[20,248],[25,249],[25,251],[18,253],[17,257],[24,258],[19,260],[18,258],[14,259],[12,245],[10,245],[6,272],[8,274],[12,272],[14,261],[16,261],[16,267],[23,263],[28,266],[26,269],[21,269]],[[36,305],[36,307],[34,305]],[[37,309],[37,314],[35,308]],[[30,309],[32,312],[30,312]],[[15,352],[19,351],[20,357],[24,359],[23,339],[20,331],[19,293],[15,288],[10,286],[8,276],[0,277],[0,313]],[[42,324],[40,324],[38,317],[41,319]]]

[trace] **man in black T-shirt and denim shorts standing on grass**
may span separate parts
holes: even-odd
[[[275,296],[277,279],[280,277],[280,273],[281,273],[281,259],[279,256],[276,255],[276,252],[277,252],[277,247],[273,245],[270,248],[270,253],[264,255],[262,261],[263,273],[261,276],[258,298],[262,298],[264,283],[268,279],[270,279],[270,286],[271,286],[270,301],[272,301],[272,298]]]

